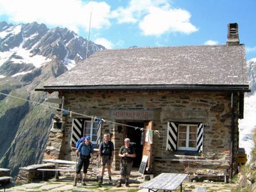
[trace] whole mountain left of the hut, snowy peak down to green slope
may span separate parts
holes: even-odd
[[[14,176],[42,161],[55,111],[40,105],[47,95],[35,88],[100,49],[67,28],[0,22],[0,167]]]

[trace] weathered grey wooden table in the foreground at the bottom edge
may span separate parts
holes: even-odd
[[[172,191],[180,186],[180,191],[182,191],[182,182],[186,179],[188,174],[182,173],[161,173],[157,175],[152,180],[145,182],[140,186],[140,188],[146,188],[148,191]]]

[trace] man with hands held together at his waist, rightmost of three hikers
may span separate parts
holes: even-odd
[[[125,177],[125,186],[129,187],[129,177],[132,170],[132,163],[134,157],[136,157],[136,152],[134,147],[131,146],[131,141],[129,138],[125,138],[124,144],[118,153],[119,157],[122,157],[120,164],[120,180],[116,188],[122,187],[122,180]]]

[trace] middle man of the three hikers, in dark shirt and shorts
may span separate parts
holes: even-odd
[[[114,144],[112,141],[109,140],[109,134],[105,133],[103,141],[99,145],[99,163],[102,165],[101,169],[101,177],[99,178],[99,183],[103,182],[103,176],[107,164],[108,169],[108,182],[109,184],[112,183],[111,180],[111,164],[113,163],[113,156],[114,156]]]

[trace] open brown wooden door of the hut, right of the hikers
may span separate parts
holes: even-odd
[[[152,147],[151,147],[151,144],[149,143],[149,141],[145,141],[147,130],[153,130],[153,122],[152,121],[145,123],[144,132],[143,132],[143,156],[148,156],[146,170],[148,170],[150,172],[150,170],[152,168],[152,164],[151,164],[151,162],[152,162]]]

